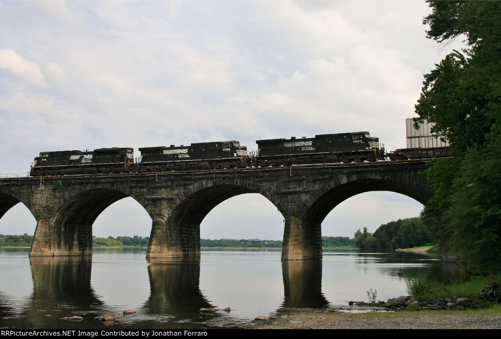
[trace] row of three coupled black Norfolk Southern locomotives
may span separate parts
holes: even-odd
[[[257,140],[258,150],[247,152],[238,141],[194,143],[189,146],[99,148],[94,151],[41,152],[30,175],[146,173],[348,163],[385,160],[384,146],[369,132],[316,135],[315,138]]]

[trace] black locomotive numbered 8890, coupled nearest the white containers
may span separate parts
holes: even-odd
[[[315,138],[257,140],[255,166],[384,160],[384,146],[369,132],[321,134]]]

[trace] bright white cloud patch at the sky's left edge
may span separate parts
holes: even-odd
[[[40,66],[32,61],[23,59],[11,49],[0,49],[0,68],[8,70],[15,77],[30,84],[47,87]]]

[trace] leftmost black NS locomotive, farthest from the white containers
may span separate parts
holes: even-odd
[[[133,169],[133,148],[98,148],[94,151],[40,152],[30,175],[127,173]]]

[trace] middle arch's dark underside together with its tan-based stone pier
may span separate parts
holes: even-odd
[[[253,182],[236,178],[218,178],[190,187],[165,212],[164,218],[153,220],[147,258],[198,260],[202,220],[224,200],[245,193],[259,193],[278,205],[273,194]]]

